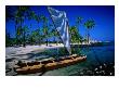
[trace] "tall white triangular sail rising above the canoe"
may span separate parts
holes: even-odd
[[[56,30],[58,31],[64,46],[66,47],[69,54],[71,54],[70,42],[69,42],[69,30],[68,30],[68,20],[66,17],[66,13],[63,11],[55,10],[53,8],[48,8],[51,17],[54,22]]]

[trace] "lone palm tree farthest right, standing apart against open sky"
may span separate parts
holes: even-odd
[[[88,40],[88,43],[90,43],[90,41],[89,41],[89,39],[90,39],[90,30],[95,26],[94,20],[88,20],[84,23],[84,26],[87,28],[87,40]]]

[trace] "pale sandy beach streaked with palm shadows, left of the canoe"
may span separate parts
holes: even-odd
[[[36,61],[36,59],[49,60],[53,58],[49,58],[48,55],[40,55],[40,52],[43,52],[49,49],[55,49],[64,47],[61,44],[45,44],[41,46],[26,46],[24,47],[6,47],[5,48],[5,72],[6,75],[14,75],[13,67],[18,61],[23,62],[31,62]],[[48,59],[48,58],[49,59]]]

